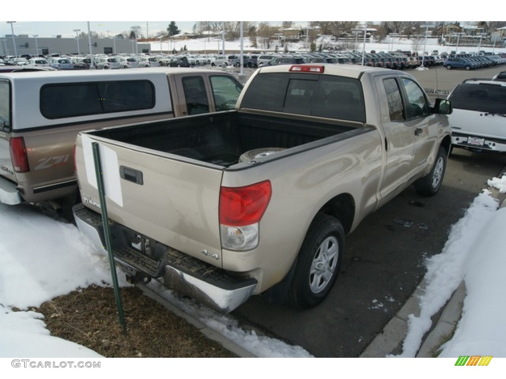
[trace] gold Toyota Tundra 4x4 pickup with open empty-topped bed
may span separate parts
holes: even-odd
[[[102,194],[132,281],[223,312],[258,294],[311,308],[367,214],[411,184],[439,191],[449,113],[400,71],[263,67],[235,110],[79,133],[76,224],[104,250]]]

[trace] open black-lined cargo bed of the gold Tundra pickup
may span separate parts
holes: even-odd
[[[90,134],[122,143],[175,154],[229,167],[239,157],[256,149],[289,149],[356,129],[335,122],[223,112],[213,115],[167,119],[121,128],[96,130]]]

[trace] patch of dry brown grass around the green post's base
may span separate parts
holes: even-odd
[[[57,297],[36,309],[51,335],[86,346],[105,357],[232,358],[186,320],[135,288],[121,289],[126,335],[112,288],[91,286]]]

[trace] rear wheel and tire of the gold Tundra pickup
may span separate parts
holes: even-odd
[[[335,217],[319,213],[302,244],[288,299],[300,308],[320,304],[330,293],[341,268],[345,232]]]

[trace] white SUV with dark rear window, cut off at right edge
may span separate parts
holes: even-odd
[[[448,115],[453,148],[506,153],[506,83],[467,80],[448,99],[453,107]]]

